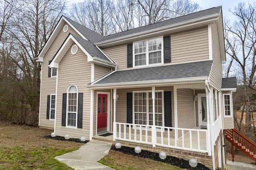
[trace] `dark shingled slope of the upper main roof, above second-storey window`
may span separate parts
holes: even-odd
[[[128,31],[123,31],[123,32],[120,32],[120,33],[115,33],[115,34],[112,34],[112,35],[108,35],[108,36],[106,36],[106,37],[104,37],[104,38],[102,38],[102,39],[100,39],[99,41],[96,41],[96,42],[99,43],[99,42],[103,42],[103,41],[108,41],[108,40],[111,40],[111,39],[120,38],[120,37],[124,37],[124,36],[127,36],[127,35],[132,35],[132,34],[141,33],[141,32],[144,32],[144,31],[149,31],[151,29],[161,28],[161,27],[165,27],[165,26],[168,26],[168,25],[174,25],[174,24],[182,23],[182,22],[189,21],[189,20],[195,20],[197,18],[203,18],[203,17],[206,17],[206,16],[211,16],[213,14],[220,14],[220,10],[221,10],[221,6],[210,8],[210,9],[207,9],[207,10],[202,10],[202,11],[199,11],[199,12],[195,12],[195,13],[188,14],[188,15],[185,15],[185,16],[180,16],[180,17],[173,18],[173,19],[170,19],[170,20],[165,20],[165,21],[162,21],[162,22],[146,25],[146,26],[143,26],[143,27],[130,29]]]

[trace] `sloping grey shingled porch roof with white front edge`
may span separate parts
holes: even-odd
[[[95,82],[88,84],[88,87],[203,81],[208,78],[211,67],[212,61],[199,61],[120,70],[103,76]]]

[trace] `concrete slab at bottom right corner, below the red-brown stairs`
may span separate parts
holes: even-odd
[[[256,164],[246,164],[244,162],[232,162],[227,160],[227,164],[224,165],[226,170],[256,170]]]

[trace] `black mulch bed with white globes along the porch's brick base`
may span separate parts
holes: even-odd
[[[204,166],[203,164],[200,164],[200,163],[198,163],[198,165],[195,168],[193,168],[188,164],[188,160],[176,158],[174,156],[166,156],[166,159],[162,160],[162,159],[159,158],[159,153],[150,152],[148,150],[141,150],[141,152],[137,154],[136,152],[134,152],[134,148],[130,148],[130,147],[122,146],[120,149],[116,149],[115,145],[112,145],[111,149],[122,152],[122,153],[125,153],[125,154],[131,154],[133,156],[138,156],[138,157],[141,157],[141,158],[149,158],[149,159],[152,159],[152,160],[172,164],[172,165],[178,166],[182,169],[187,169],[187,170],[210,170],[209,168],[207,168],[206,166]]]

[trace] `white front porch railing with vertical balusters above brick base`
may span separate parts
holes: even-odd
[[[114,123],[114,126],[116,126],[116,132],[113,134],[114,140],[208,152],[206,129],[156,126],[156,134],[152,134],[152,125]],[[155,138],[155,140],[152,140],[152,138]],[[152,141],[155,141],[155,143]]]

